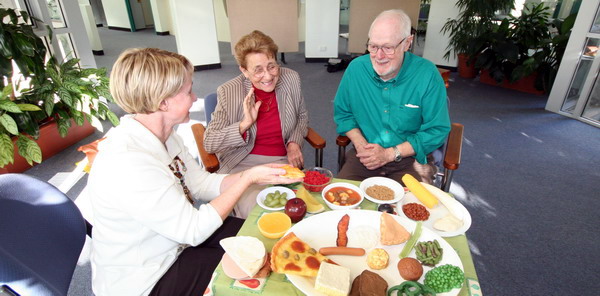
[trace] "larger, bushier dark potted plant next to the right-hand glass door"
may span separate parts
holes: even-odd
[[[534,94],[549,91],[575,17],[550,22],[549,8],[538,4],[504,19],[479,39],[484,44],[476,62],[483,69],[480,80]]]

